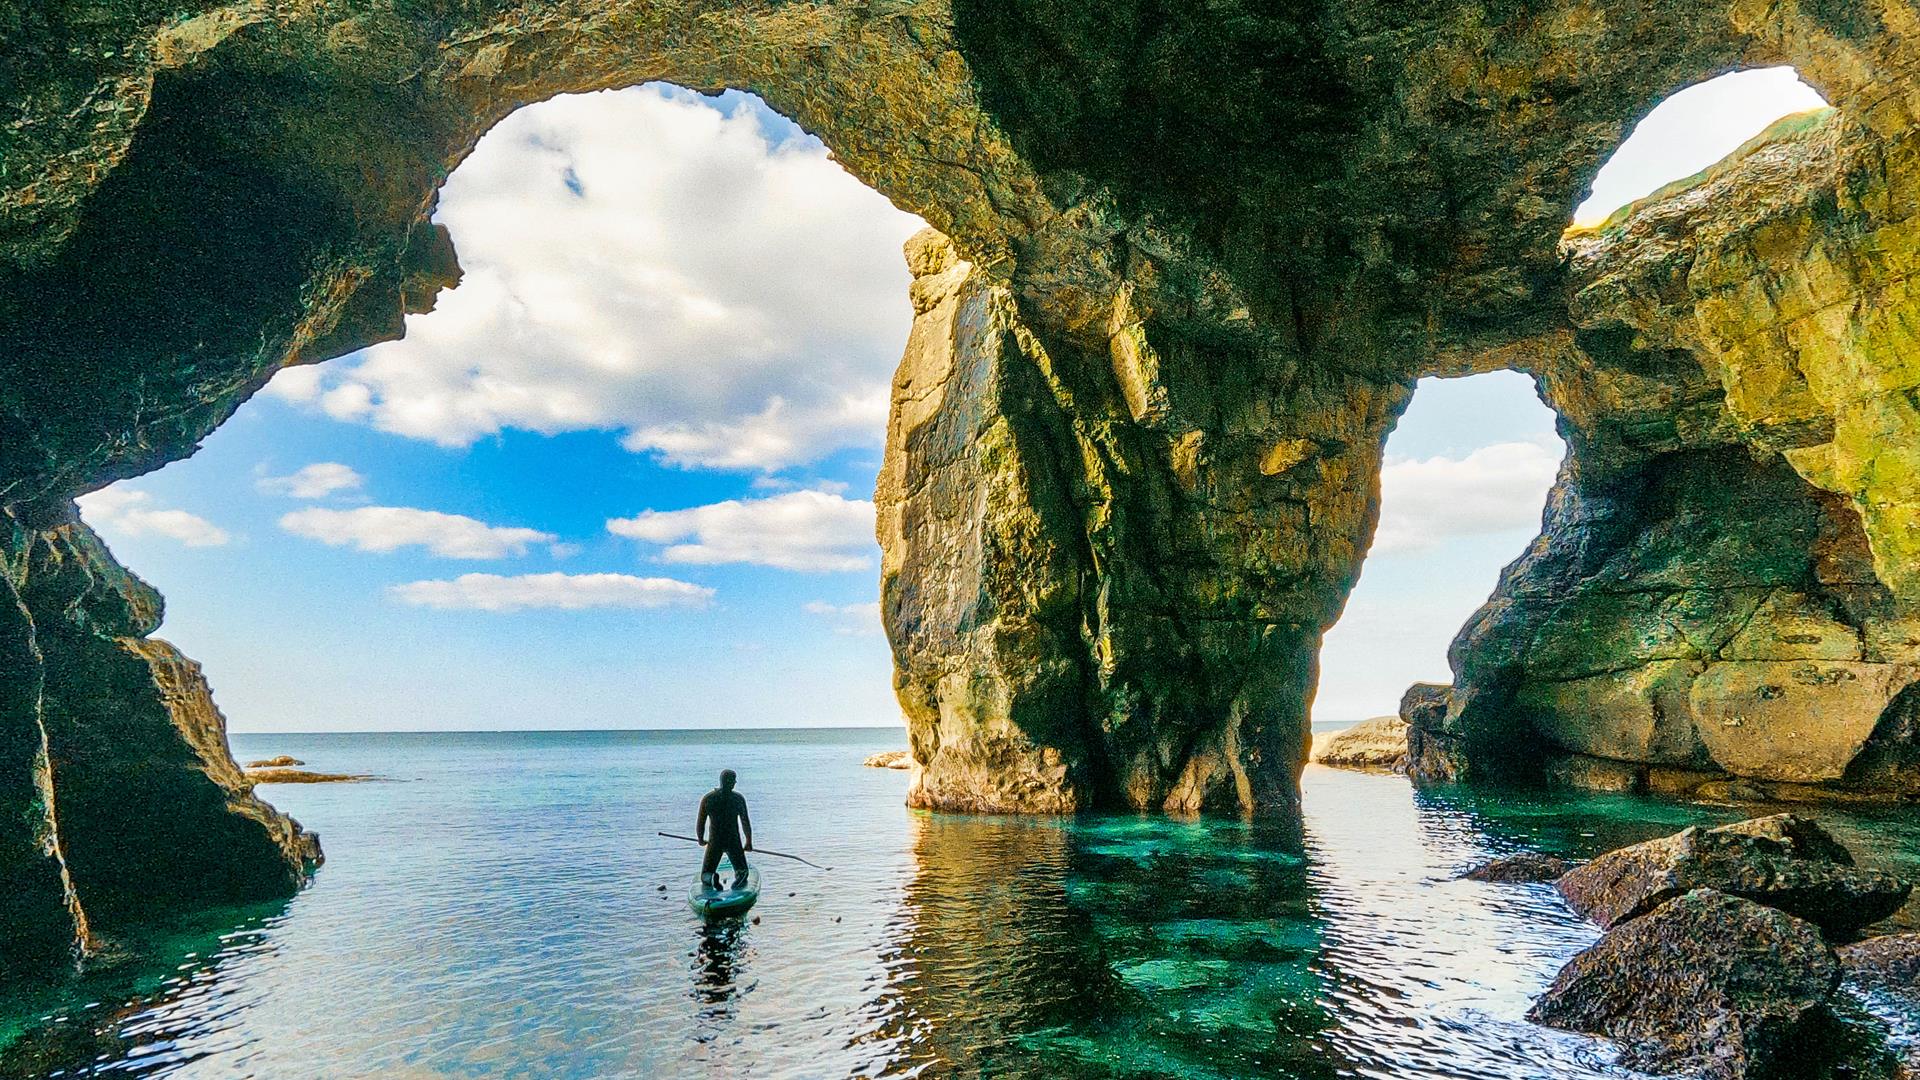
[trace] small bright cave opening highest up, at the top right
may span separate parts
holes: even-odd
[[[1828,108],[1793,67],[1749,67],[1695,83],[1661,100],[1607,158],[1572,211],[1574,229],[1686,184],[1774,123]]]

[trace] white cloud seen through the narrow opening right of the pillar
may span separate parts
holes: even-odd
[[[1388,461],[1373,553],[1421,552],[1453,536],[1540,528],[1559,448],[1496,442],[1465,457]]]

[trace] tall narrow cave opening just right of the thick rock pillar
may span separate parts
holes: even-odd
[[[1423,379],[1386,440],[1380,521],[1359,582],[1321,642],[1313,730],[1394,715],[1448,682],[1448,644],[1540,532],[1565,446],[1517,371]]]

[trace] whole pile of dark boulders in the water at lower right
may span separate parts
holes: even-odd
[[[1686,828],[1571,867],[1523,853],[1461,876],[1551,880],[1605,930],[1528,1019],[1607,1038],[1628,1068],[1709,1080],[1912,1076],[1916,1063],[1903,1063],[1841,992],[1853,980],[1920,1005],[1920,934],[1870,936],[1912,882],[1859,867],[1809,819]]]

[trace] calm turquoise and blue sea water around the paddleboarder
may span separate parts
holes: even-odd
[[[970,819],[862,769],[900,732],[234,736],[396,782],[269,786],[328,865],[284,905],[0,992],[0,1076],[1626,1076],[1526,1024],[1596,932],[1452,876],[1741,817],[1415,794],[1311,769],[1300,828]],[[685,907],[699,796],[741,773],[758,922]],[[1920,822],[1830,817],[1920,865]],[[664,886],[664,888],[660,888]]]

